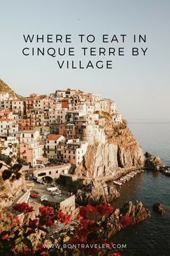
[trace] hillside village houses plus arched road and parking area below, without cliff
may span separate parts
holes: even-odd
[[[35,198],[40,203],[46,200],[59,203],[60,207],[63,203],[62,210],[68,210],[68,205],[69,210],[75,209],[75,195],[54,185],[47,190],[46,183],[59,177],[68,184],[77,179],[79,175],[74,170],[82,164],[89,146],[106,142],[104,114],[111,117],[115,126],[123,123],[115,102],[101,99],[99,94],[67,89],[20,99],[10,91],[1,91],[0,162],[10,159],[11,165],[22,165],[22,183],[10,183],[12,191],[5,195],[1,207],[27,202],[36,190],[39,198]]]

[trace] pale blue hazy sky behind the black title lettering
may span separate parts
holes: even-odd
[[[50,94],[56,89],[80,88],[111,98],[127,120],[170,120],[170,1],[169,0],[0,0],[0,78],[17,94]],[[23,35],[72,35],[72,43],[26,44]],[[78,35],[95,36],[93,43],[80,43]],[[125,34],[122,43],[120,35]],[[132,41],[146,35],[146,42]],[[109,35],[109,43],[102,43]],[[111,38],[116,35],[116,41]],[[75,56],[24,56],[22,49],[44,47],[75,48]],[[83,57],[81,47],[114,47],[116,56]],[[124,47],[125,55],[117,49]],[[140,49],[132,56],[132,47]],[[29,50],[30,52],[30,50]],[[89,60],[106,63],[112,69],[59,69],[57,60]]]

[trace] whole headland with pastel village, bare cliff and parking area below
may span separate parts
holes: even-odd
[[[0,163],[1,207],[46,203],[74,214],[76,203],[119,197],[114,184],[143,171],[145,156],[111,99],[69,88],[25,98],[1,89]]]

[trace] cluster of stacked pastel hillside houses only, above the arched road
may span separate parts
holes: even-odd
[[[30,167],[51,162],[79,165],[88,145],[105,142],[103,118],[122,123],[111,99],[80,90],[57,90],[54,94],[31,94],[14,99],[0,93],[1,154],[25,160]]]

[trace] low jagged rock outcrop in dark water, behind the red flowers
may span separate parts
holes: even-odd
[[[127,202],[121,209],[116,209],[106,221],[108,236],[111,237],[129,225],[135,225],[140,221],[150,217],[150,210],[143,206],[143,203],[137,201],[135,205]]]

